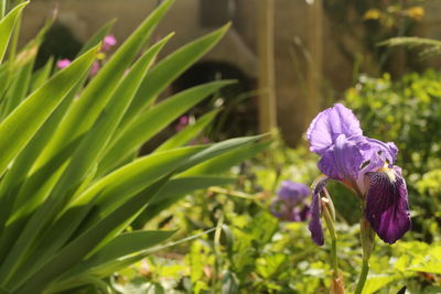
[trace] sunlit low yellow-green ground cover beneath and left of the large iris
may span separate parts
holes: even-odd
[[[216,230],[120,271],[121,292],[155,287],[164,293],[330,293],[331,241],[318,250],[308,224],[280,221],[269,214],[281,181],[312,181],[316,156],[306,148],[271,144],[268,151],[233,168],[235,184],[190,193],[149,222],[153,228],[183,228],[184,235]],[[330,193],[341,193],[335,188]],[[338,211],[349,198],[347,194],[338,198]],[[351,291],[362,266],[362,249],[359,225],[348,224],[348,213],[337,215],[335,229],[340,271]],[[435,224],[433,218],[428,222]],[[364,294],[397,293],[405,285],[409,293],[440,291],[440,246],[415,241],[417,237],[418,232],[409,232],[407,241],[394,246],[376,240]]]

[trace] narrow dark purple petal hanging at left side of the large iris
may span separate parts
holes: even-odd
[[[322,221],[320,219],[322,215],[320,193],[324,189],[326,183],[327,183],[327,177],[320,178],[312,193],[311,218],[308,228],[311,231],[312,240],[318,246],[324,244],[323,227],[322,227]]]

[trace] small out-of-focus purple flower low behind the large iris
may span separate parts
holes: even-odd
[[[283,181],[277,198],[272,202],[271,214],[287,221],[304,221],[310,216],[310,207],[304,203],[310,188],[306,185]]]

